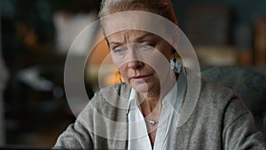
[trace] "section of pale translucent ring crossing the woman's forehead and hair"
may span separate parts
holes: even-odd
[[[152,12],[116,12],[101,18],[100,23],[106,36],[126,29],[138,29],[159,35],[169,43],[175,43],[178,39],[179,29],[176,25]]]

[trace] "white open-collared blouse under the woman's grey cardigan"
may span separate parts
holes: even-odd
[[[173,147],[173,141],[177,130],[178,115],[183,104],[186,90],[186,76],[184,71],[178,76],[175,86],[162,100],[160,119],[156,131],[154,146],[152,148],[148,131],[145,125],[144,115],[137,106],[136,91],[132,89],[129,96],[128,120],[129,120],[129,145],[133,150],[169,150]]]

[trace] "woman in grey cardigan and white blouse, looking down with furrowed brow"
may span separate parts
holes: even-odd
[[[128,17],[117,16],[119,12],[127,12]],[[176,63],[175,46],[167,40],[175,32],[155,28],[168,34],[163,38],[134,26],[115,31],[125,22],[154,29],[156,25],[149,23],[153,19],[130,15],[136,12],[177,24],[168,0],[102,2],[101,25],[113,64],[125,83],[98,91],[54,148],[265,149],[252,114],[233,91],[199,80],[200,95],[188,96],[187,78],[193,82],[199,77]],[[187,109],[192,112],[182,115]]]

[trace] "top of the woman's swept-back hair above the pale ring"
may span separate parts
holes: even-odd
[[[125,11],[156,13],[177,25],[176,14],[170,0],[102,0],[99,18]]]

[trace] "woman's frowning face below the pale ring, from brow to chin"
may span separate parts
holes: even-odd
[[[141,30],[126,30],[106,39],[114,65],[124,81],[136,91],[158,90],[160,83],[167,79],[171,46],[160,36]]]

